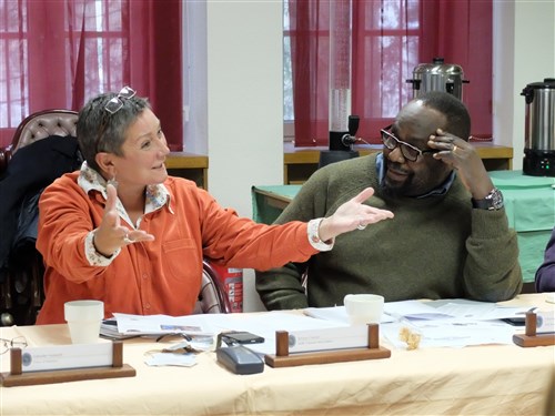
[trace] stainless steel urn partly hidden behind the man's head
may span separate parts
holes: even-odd
[[[432,63],[421,63],[413,70],[413,79],[406,80],[413,84],[414,98],[428,91],[445,91],[463,101],[463,69],[453,63],[445,63],[443,58],[434,58]]]

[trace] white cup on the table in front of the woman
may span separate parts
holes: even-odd
[[[63,308],[73,344],[92,344],[99,341],[100,324],[104,318],[102,301],[71,301],[65,302]]]

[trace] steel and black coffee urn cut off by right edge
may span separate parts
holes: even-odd
[[[527,84],[523,173],[555,176],[555,78]]]

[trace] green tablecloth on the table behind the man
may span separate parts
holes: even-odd
[[[534,282],[555,226],[555,177],[528,176],[522,171],[493,171],[490,175],[503,192],[508,224],[517,232],[523,280]],[[255,189],[292,200],[301,185],[253,186],[253,219],[271,224],[282,210],[264,203]]]

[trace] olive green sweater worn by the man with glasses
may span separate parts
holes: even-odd
[[[473,209],[457,177],[441,196],[385,196],[380,193],[376,154],[317,170],[275,222],[330,216],[367,186],[375,190],[367,203],[395,217],[340,235],[331,252],[307,263],[256,272],[256,291],[269,310],[342,305],[350,293],[381,294],[386,302],[497,302],[521,292],[516,233],[504,209]]]

